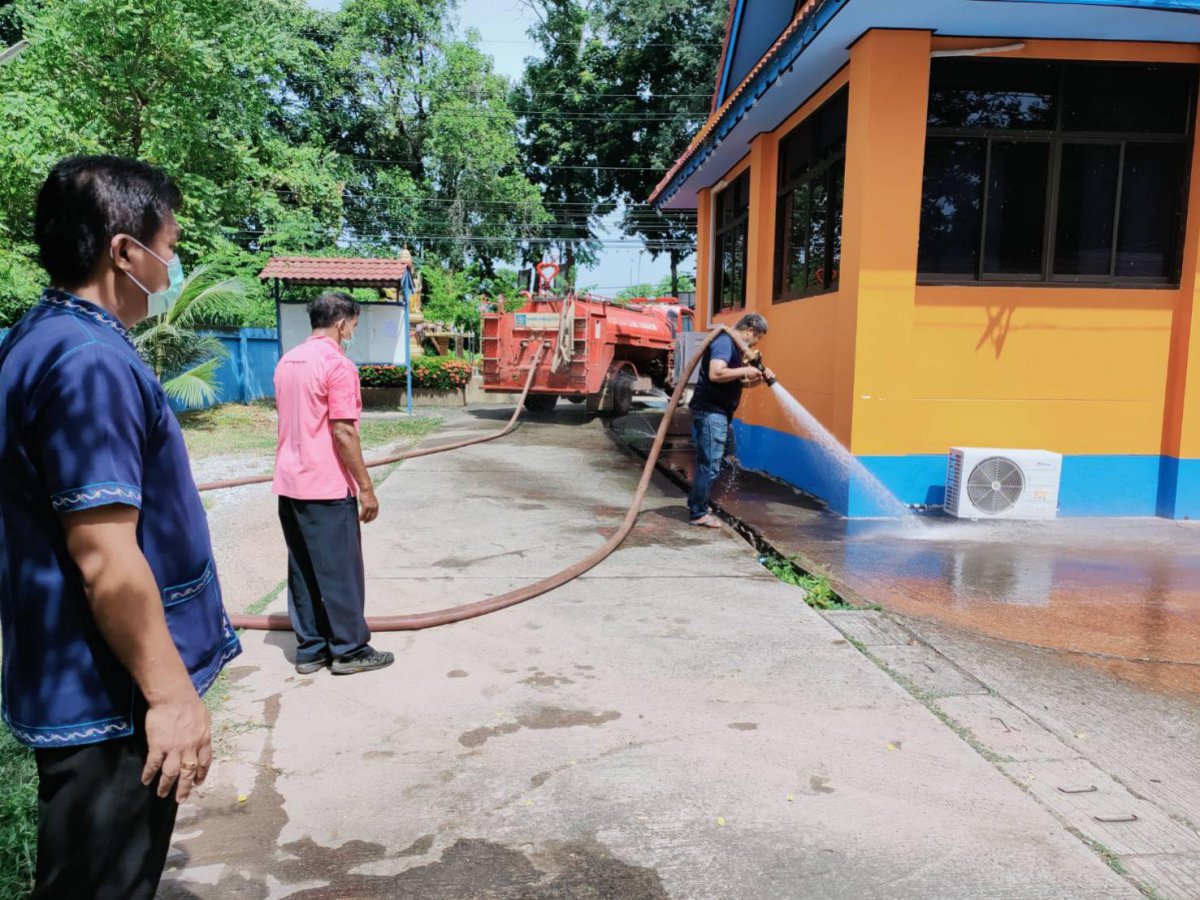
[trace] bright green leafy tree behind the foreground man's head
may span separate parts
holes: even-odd
[[[163,167],[192,263],[229,239],[341,228],[325,148],[270,126],[300,55],[302,0],[17,0],[31,47],[0,68],[0,245],[32,230],[34,197],[73,152]]]

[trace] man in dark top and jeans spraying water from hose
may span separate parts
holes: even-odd
[[[738,319],[733,334],[754,347],[767,334],[767,319],[748,313]],[[774,380],[764,370],[745,365],[742,347],[726,334],[718,335],[700,361],[700,378],[691,395],[691,438],[696,444],[696,474],[688,494],[688,522],[701,528],[720,528],[709,511],[708,498],[721,474],[721,463],[733,450],[733,414],[742,402],[742,388]]]

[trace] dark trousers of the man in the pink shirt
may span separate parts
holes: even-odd
[[[366,575],[359,503],[280,498],[288,544],[288,616],[296,662],[347,656],[366,646]]]

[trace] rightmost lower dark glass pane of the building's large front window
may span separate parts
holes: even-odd
[[[1183,144],[1126,146],[1116,274],[1168,278],[1178,272],[1187,170]]]

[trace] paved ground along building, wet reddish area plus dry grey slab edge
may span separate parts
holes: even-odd
[[[658,421],[614,433],[646,446]],[[680,479],[689,428],[683,413],[664,462]],[[882,606],[859,631],[828,618],[1064,827],[1152,896],[1200,896],[1200,526],[847,521],[744,470],[715,499]]]

